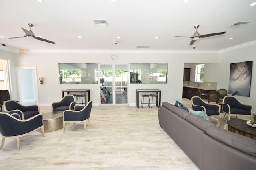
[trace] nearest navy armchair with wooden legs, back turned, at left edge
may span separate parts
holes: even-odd
[[[18,117],[18,119],[17,119]],[[41,129],[44,136],[43,115],[39,114],[27,120],[20,120],[18,113],[0,112],[0,133],[2,143],[0,149],[4,146],[5,138],[17,139],[17,150],[20,150],[20,137],[30,134],[33,131]]]

